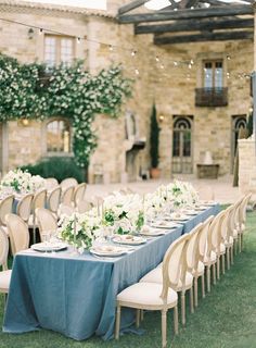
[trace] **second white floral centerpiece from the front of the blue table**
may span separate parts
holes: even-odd
[[[113,226],[117,234],[139,232],[144,223],[143,200],[139,195],[115,192],[104,200],[104,226]]]

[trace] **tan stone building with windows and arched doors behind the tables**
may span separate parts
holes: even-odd
[[[125,75],[135,79],[133,96],[118,120],[95,117],[99,141],[90,182],[131,181],[146,173],[153,102],[162,129],[162,177],[196,174],[206,152],[221,175],[232,173],[238,132],[252,103],[253,39],[155,45],[152,34],[135,35],[132,24],[116,21],[124,3],[108,1],[104,12],[0,0],[0,52],[48,64],[80,58],[91,73],[121,63]],[[2,172],[52,154],[72,156],[72,129],[59,115],[47,122],[9,122],[0,132]]]

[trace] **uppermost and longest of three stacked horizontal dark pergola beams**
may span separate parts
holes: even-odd
[[[252,5],[215,7],[208,9],[185,9],[178,11],[163,11],[154,13],[126,14],[117,17],[119,23],[159,22],[171,20],[203,18],[227,15],[253,14]]]

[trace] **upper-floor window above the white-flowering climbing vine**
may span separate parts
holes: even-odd
[[[63,63],[68,66],[75,58],[75,39],[54,35],[44,36],[44,61],[49,67]]]

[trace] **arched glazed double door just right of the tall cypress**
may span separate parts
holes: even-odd
[[[172,173],[193,172],[193,116],[174,116]]]

